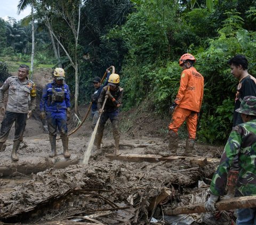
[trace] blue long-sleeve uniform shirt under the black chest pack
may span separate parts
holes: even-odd
[[[52,102],[52,87],[54,86],[55,91],[59,92],[62,91],[62,86],[64,86],[65,91],[65,99],[62,102]],[[49,101],[50,98],[50,101]],[[67,84],[57,85],[54,81],[45,85],[43,89],[43,94],[40,102],[40,111],[51,111],[51,112],[64,112],[70,108],[70,94],[69,94],[69,87]]]

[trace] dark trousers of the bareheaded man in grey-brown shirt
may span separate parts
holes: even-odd
[[[9,132],[12,128],[12,124],[15,122],[15,133],[14,133],[14,141],[15,140],[23,140],[23,132],[26,128],[27,123],[27,113],[15,113],[5,111],[4,118],[2,121],[1,131],[0,131],[0,142],[5,143]]]

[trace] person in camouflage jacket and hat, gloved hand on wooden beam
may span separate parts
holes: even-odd
[[[227,174],[238,155],[239,173],[235,197],[256,195],[256,97],[244,97],[236,110],[241,113],[244,123],[231,131],[220,164],[210,186],[210,198],[205,203],[207,211],[215,210],[215,203],[225,191]],[[256,208],[238,209],[237,225],[256,225]]]

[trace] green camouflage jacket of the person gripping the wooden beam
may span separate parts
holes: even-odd
[[[239,173],[235,197],[256,195],[256,120],[241,123],[231,131],[220,164],[212,178],[211,194],[224,194],[227,173],[236,155]]]

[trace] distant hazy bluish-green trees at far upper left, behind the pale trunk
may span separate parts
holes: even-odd
[[[31,24],[22,25],[21,21],[9,18],[4,21],[0,18],[0,57],[3,61],[31,60]],[[36,24],[35,46],[37,54],[35,65],[39,63],[53,64],[53,57],[49,34]]]

